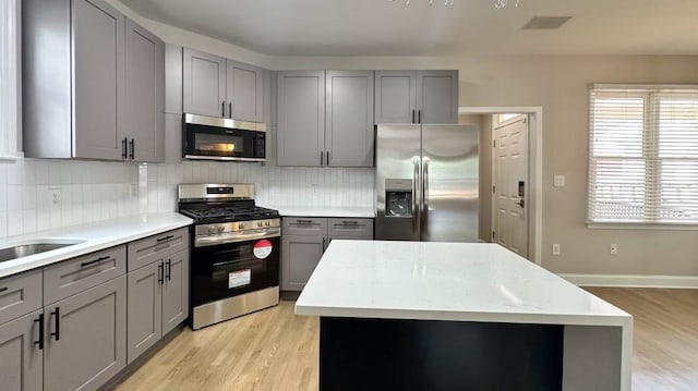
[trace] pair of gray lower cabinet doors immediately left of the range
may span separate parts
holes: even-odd
[[[189,316],[189,251],[164,255],[128,274],[128,363]]]

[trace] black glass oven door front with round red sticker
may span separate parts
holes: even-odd
[[[192,252],[194,306],[279,284],[278,237],[195,247]]]

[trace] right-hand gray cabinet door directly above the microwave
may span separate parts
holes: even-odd
[[[264,122],[262,69],[227,61],[228,117],[240,121]]]

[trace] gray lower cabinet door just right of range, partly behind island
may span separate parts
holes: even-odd
[[[323,256],[325,236],[281,236],[281,290],[301,291]]]

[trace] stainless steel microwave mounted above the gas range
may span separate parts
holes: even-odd
[[[182,119],[185,159],[266,161],[266,124],[196,114]]]

